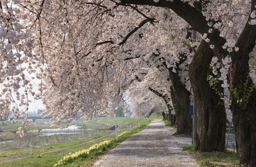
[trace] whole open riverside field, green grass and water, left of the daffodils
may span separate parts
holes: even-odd
[[[64,124],[51,127],[45,120],[36,120],[24,128],[23,138],[16,134],[22,122],[17,125],[2,122],[0,166],[54,166],[70,152],[89,148],[101,140],[116,138],[115,130],[112,129],[114,125],[118,125],[121,131],[136,132],[139,125],[147,125],[149,122],[151,119],[146,118],[93,118],[89,122],[75,120],[68,127]]]

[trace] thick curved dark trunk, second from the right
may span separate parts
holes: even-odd
[[[194,100],[197,102],[196,150],[203,152],[225,150],[225,106],[206,79],[212,57],[209,44],[202,40],[189,70]]]

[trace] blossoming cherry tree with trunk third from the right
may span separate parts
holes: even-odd
[[[175,93],[177,95],[176,98],[173,98],[178,120],[177,134],[190,134],[192,124],[188,111],[190,104],[188,63],[191,61],[192,54],[190,51],[191,41],[187,38],[189,27],[186,22],[177,17],[171,10],[163,10],[162,13],[156,11],[152,15],[156,17],[156,24],[151,29],[146,27],[146,31],[144,31],[143,27],[140,29],[140,34],[143,34],[141,40],[138,40],[136,35],[130,37],[130,40],[133,39],[133,41],[137,42],[136,47],[142,48],[140,49],[140,54],[151,67],[157,67],[161,72],[167,73],[168,77],[166,79],[172,81],[172,85],[169,87],[174,87],[172,89],[174,90],[172,97],[174,97]],[[176,28],[176,24],[181,26]],[[179,32],[179,36],[176,36],[177,32]],[[158,34],[158,38],[156,38],[156,34]],[[181,45],[176,45],[178,41],[181,42]],[[136,49],[129,43],[127,45],[133,48],[132,50]],[[181,61],[180,59],[183,60]],[[168,89],[170,90],[170,88]]]

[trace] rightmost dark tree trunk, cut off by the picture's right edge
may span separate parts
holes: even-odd
[[[252,10],[255,10],[255,3],[252,1]],[[239,51],[231,56],[230,70],[231,110],[240,164],[250,167],[256,166],[256,86],[249,77],[248,61],[250,52],[255,48],[255,40],[256,25],[246,24],[236,43]]]

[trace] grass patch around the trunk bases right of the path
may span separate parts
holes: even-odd
[[[197,152],[195,151],[195,145],[185,145],[182,149],[195,158],[200,166],[239,166],[238,154],[231,150],[225,152]]]

